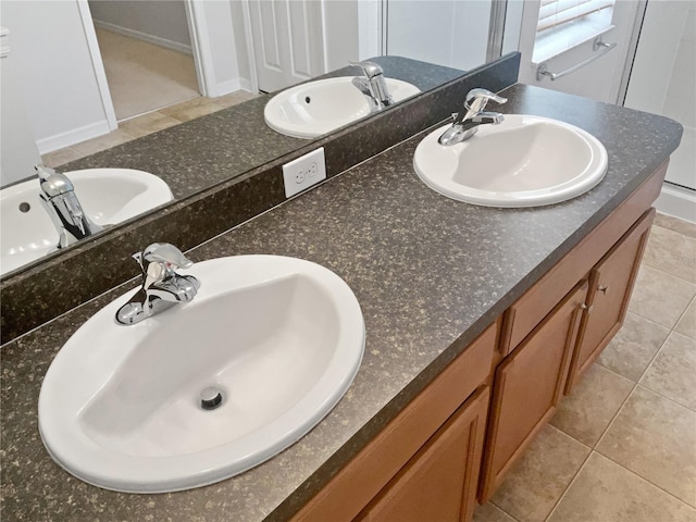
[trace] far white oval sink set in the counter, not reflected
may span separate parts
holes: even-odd
[[[556,120],[506,114],[481,125],[468,140],[437,142],[449,127],[428,134],[413,166],[432,189],[485,207],[537,207],[580,196],[607,172],[607,150],[589,133]]]

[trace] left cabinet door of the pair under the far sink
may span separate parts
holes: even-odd
[[[561,397],[587,283],[568,296],[498,366],[481,481],[484,504],[506,472],[550,419]]]

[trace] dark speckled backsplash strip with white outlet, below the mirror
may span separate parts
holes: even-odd
[[[137,276],[138,268],[130,256],[148,244],[166,241],[186,251],[282,203],[284,163],[324,147],[327,177],[333,177],[449,117],[461,107],[470,89],[485,87],[497,91],[513,85],[519,64],[519,53],[508,54],[384,114],[312,141],[3,279],[2,344]],[[151,141],[154,137],[146,138]],[[158,154],[156,144],[152,145],[152,154]]]

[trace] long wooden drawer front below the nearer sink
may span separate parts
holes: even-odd
[[[352,520],[488,378],[498,321],[481,334],[291,520]]]

